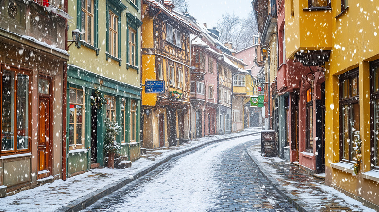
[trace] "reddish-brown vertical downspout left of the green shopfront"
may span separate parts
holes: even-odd
[[[64,1],[64,11],[67,13],[67,0]],[[67,19],[66,19],[66,29],[65,29],[65,39],[67,41]],[[67,42],[65,41],[65,49],[69,50],[67,47]],[[63,65],[63,91],[62,91],[62,180],[66,180],[66,160],[67,160],[67,149],[66,149],[66,120],[67,120],[67,61]]]

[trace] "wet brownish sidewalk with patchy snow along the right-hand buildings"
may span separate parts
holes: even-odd
[[[301,212],[375,212],[288,161],[262,157],[260,143],[247,152],[276,191]]]

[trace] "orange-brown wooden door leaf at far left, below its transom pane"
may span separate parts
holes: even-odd
[[[50,99],[39,97],[39,120],[38,120],[38,179],[50,175]]]

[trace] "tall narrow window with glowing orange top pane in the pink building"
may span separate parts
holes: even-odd
[[[312,101],[312,88],[307,90],[306,96],[306,138],[305,138],[305,151],[313,153],[313,101]]]

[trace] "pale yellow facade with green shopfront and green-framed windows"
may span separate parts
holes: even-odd
[[[121,126],[120,155],[140,156],[140,9],[140,0],[69,1],[69,32],[81,38],[69,48],[68,176],[104,165],[106,118]]]

